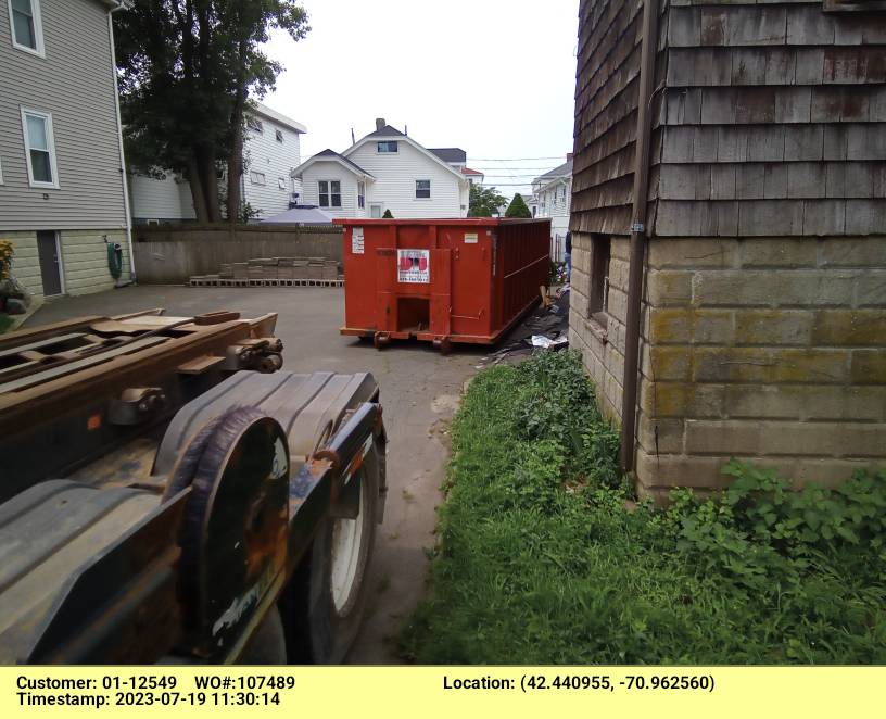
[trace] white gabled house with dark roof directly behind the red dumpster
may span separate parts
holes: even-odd
[[[302,202],[322,207],[333,217],[381,217],[385,210],[397,218],[466,217],[470,184],[460,161],[441,156],[410,137],[376,121],[370,133],[342,153],[324,150],[296,167]]]

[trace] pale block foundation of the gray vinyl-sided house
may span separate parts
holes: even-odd
[[[14,248],[12,272],[15,279],[33,295],[43,295],[40,260],[37,252],[36,231],[0,230],[0,239],[12,240]],[[114,278],[107,268],[107,242],[123,247],[123,272],[121,279],[129,278],[129,248],[126,230],[90,229],[60,230],[62,270],[65,294],[88,294],[114,287]]]

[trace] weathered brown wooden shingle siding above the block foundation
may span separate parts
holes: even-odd
[[[654,234],[883,232],[886,12],[823,12],[821,0],[662,9]],[[628,232],[641,10],[631,0],[581,7],[575,230]]]

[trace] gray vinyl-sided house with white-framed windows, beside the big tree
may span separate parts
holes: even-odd
[[[110,289],[130,252],[110,0],[0,10],[0,239],[35,295]]]

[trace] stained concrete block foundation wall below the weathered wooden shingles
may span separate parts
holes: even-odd
[[[618,421],[628,239],[611,240],[600,332],[591,236],[575,238],[570,342]],[[642,495],[723,488],[731,457],[797,485],[886,466],[886,237],[654,238],[641,362]]]

